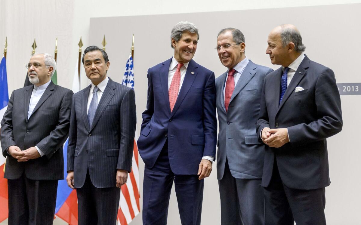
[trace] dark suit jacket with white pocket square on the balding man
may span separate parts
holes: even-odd
[[[265,77],[257,135],[264,127],[288,129],[290,142],[266,146],[262,186],[271,180],[274,159],[282,182],[294,189],[330,185],[326,138],[342,130],[341,101],[334,72],[307,56],[279,104],[282,67]],[[295,92],[296,87],[304,90]]]

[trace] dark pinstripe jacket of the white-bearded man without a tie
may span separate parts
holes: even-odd
[[[29,179],[64,179],[63,144],[69,132],[73,92],[50,82],[28,120],[33,89],[31,85],[13,91],[1,121],[1,148],[6,157],[4,177],[17,179],[25,172]],[[6,151],[12,145],[21,150],[36,145],[45,155],[19,163]]]

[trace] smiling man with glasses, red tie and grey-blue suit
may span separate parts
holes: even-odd
[[[217,178],[222,224],[263,224],[261,186],[265,147],[256,121],[265,75],[273,70],[245,56],[245,39],[235,28],[217,36],[219,60],[228,69],[216,79],[219,121]]]

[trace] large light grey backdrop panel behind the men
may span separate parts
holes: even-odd
[[[355,68],[360,62],[358,44],[361,34],[359,12],[361,4],[329,5],[315,7],[238,10],[227,12],[204,12],[165,14],[153,16],[127,16],[91,18],[89,44],[100,46],[105,34],[110,59],[109,77],[121,82],[135,35],[135,94],[138,114],[138,130],[141,113],[147,101],[147,69],[173,55],[170,48],[170,30],[179,21],[195,23],[200,40],[195,57],[199,64],[213,70],[216,76],[226,68],[219,62],[214,49],[219,30],[236,27],[242,30],[246,40],[246,55],[253,62],[273,69],[265,54],[267,36],[273,27],[282,23],[296,25],[306,45],[305,54],[311,60],[330,67],[338,83],[361,82],[360,72]],[[288,16],[284,16],[288,15]],[[361,125],[360,95],[342,95],[344,128],[342,133],[328,139],[331,186],[326,188],[326,219],[328,224],[360,224],[361,200],[358,187],[361,182],[358,163],[360,147],[356,145],[356,127]],[[213,169],[215,170],[215,164]],[[144,164],[140,163],[140,186],[142,196]],[[134,224],[141,224],[141,215]],[[168,224],[180,224],[175,193],[170,199]],[[216,171],[205,179],[202,224],[220,224],[220,204]]]

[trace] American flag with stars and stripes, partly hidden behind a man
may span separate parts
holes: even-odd
[[[125,65],[124,77],[122,84],[134,90],[134,73],[133,73],[133,58],[130,55]],[[128,181],[121,187],[119,210],[118,210],[118,224],[127,225],[133,218],[139,214],[139,161],[138,161],[138,147],[136,145],[138,139],[138,132],[135,130],[134,149],[133,149],[133,163],[132,171],[129,173]]]

